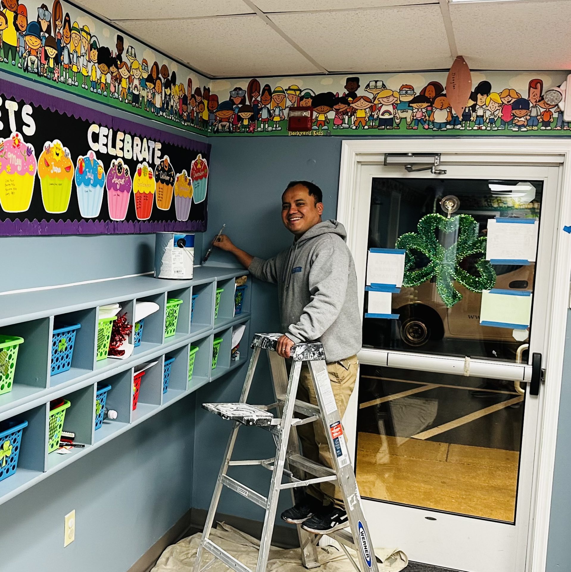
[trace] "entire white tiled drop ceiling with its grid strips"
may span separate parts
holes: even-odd
[[[211,78],[568,70],[571,0],[81,0]]]

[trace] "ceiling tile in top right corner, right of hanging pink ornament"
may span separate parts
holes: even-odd
[[[458,53],[473,69],[571,69],[571,2],[452,3]]]

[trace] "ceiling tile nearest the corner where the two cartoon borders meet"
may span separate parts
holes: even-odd
[[[257,16],[115,23],[211,76],[278,76],[320,71]]]

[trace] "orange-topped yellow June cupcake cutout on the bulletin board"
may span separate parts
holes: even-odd
[[[66,212],[71,198],[73,173],[69,149],[58,139],[47,141],[38,158],[38,177],[46,212]]]

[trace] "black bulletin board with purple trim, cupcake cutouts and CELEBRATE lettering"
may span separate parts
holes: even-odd
[[[0,236],[206,231],[210,145],[2,82]]]

